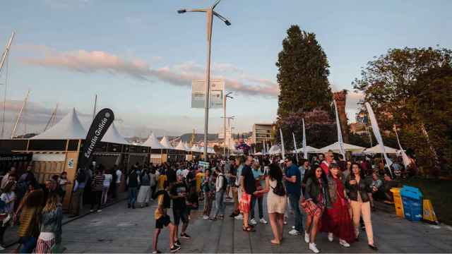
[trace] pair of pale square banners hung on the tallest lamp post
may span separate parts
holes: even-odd
[[[191,108],[203,109],[206,91],[205,80],[191,81]],[[225,91],[225,80],[210,80],[210,109],[221,109],[223,107],[223,94]]]

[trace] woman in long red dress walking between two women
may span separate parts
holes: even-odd
[[[331,174],[328,176],[328,193],[330,194],[331,208],[323,213],[321,231],[328,232],[328,240],[333,241],[333,235],[339,237],[339,244],[350,247],[355,241],[352,218],[347,199],[345,186],[340,179],[338,164],[330,164]]]

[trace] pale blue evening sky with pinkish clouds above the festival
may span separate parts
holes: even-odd
[[[204,76],[206,16],[177,14],[213,1],[6,0],[0,45],[17,33],[0,76],[7,83],[6,133],[30,99],[18,134],[41,132],[56,104],[57,119],[73,107],[82,118],[111,108],[121,134],[203,132],[203,109],[191,109],[191,80]],[[222,0],[213,23],[212,75],[224,78],[233,132],[271,123],[278,109],[275,62],[290,25],[316,33],[331,65],[333,91],[347,89],[347,116],[357,101],[352,81],[374,56],[402,47],[452,48],[452,1]],[[3,51],[3,48],[1,49]],[[7,75],[6,75],[7,73]],[[6,78],[7,77],[7,78]],[[6,82],[7,80],[7,82]],[[0,87],[1,97],[4,86]],[[1,103],[3,104],[3,103]],[[211,109],[209,133],[222,130]]]

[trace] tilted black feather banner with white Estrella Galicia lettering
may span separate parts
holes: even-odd
[[[112,109],[102,109],[97,113],[93,123],[91,123],[90,131],[83,143],[83,150],[78,159],[78,168],[83,169],[88,166],[90,159],[93,157],[95,147],[100,143],[110,125],[114,121],[114,114]]]

